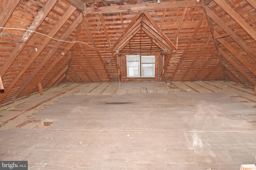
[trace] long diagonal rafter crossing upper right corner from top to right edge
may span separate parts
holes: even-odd
[[[225,0],[214,0],[233,20],[256,41],[256,31]]]

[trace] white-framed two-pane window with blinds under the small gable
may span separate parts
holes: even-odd
[[[126,55],[128,77],[154,77],[154,55]]]

